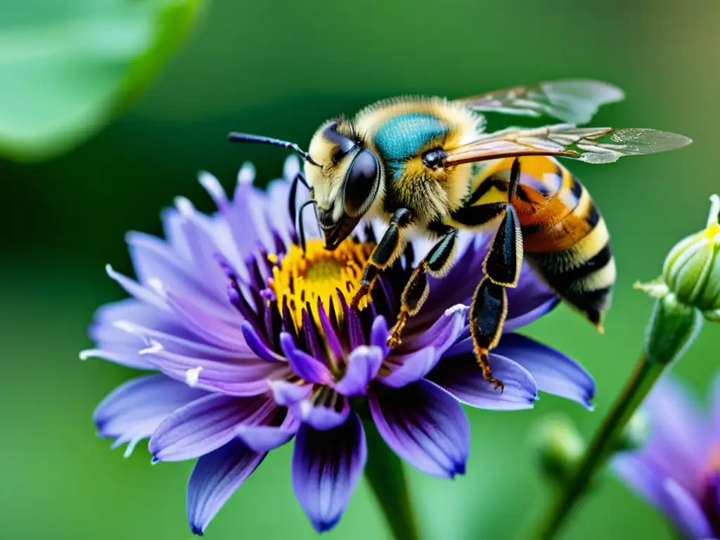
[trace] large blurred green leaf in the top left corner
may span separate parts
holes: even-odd
[[[0,0],[0,156],[36,161],[137,96],[203,0]]]

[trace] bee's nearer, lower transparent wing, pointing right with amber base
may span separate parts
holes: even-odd
[[[446,163],[456,165],[514,156],[561,156],[586,163],[613,163],[622,156],[675,150],[691,142],[683,135],[635,127],[616,129],[570,124],[533,129],[511,127],[446,150]]]

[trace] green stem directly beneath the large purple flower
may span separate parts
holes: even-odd
[[[388,448],[374,424],[365,422],[368,460],[365,477],[397,540],[420,540],[418,516],[400,458]]]

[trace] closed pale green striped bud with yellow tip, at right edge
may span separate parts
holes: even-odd
[[[662,267],[662,280],[678,301],[715,319],[720,315],[720,197],[710,199],[706,229],[672,248]]]

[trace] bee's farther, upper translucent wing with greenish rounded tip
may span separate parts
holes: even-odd
[[[625,94],[602,81],[551,81],[516,86],[478,96],[457,99],[476,111],[504,112],[521,116],[546,115],[581,125],[590,122],[600,105],[619,102]]]

